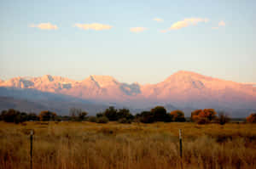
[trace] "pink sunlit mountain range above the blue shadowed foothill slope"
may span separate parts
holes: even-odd
[[[132,108],[172,104],[180,109],[256,110],[256,87],[253,85],[189,71],[178,71],[163,82],[148,85],[118,82],[112,76],[89,76],[83,81],[73,81],[45,75],[15,77],[0,81],[0,87],[31,89],[85,99],[96,104],[119,104]],[[0,96],[5,96],[1,90]]]

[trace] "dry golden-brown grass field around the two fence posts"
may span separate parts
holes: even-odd
[[[256,168],[256,124],[0,122],[0,168]],[[178,129],[183,130],[183,159]]]

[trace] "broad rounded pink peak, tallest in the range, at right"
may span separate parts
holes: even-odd
[[[255,108],[256,103],[256,87],[189,71],[178,71],[164,82],[143,87],[142,91],[150,99],[177,106]]]

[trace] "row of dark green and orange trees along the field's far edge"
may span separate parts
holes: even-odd
[[[71,108],[69,115],[57,115],[55,112],[44,110],[38,115],[35,113],[20,112],[19,110],[3,110],[0,115],[1,121],[20,123],[24,121],[90,121],[97,123],[108,123],[108,121],[118,121],[119,123],[143,122],[153,123],[162,122],[184,122],[188,121],[184,117],[182,110],[167,112],[165,107],[156,106],[151,110],[143,111],[137,115],[132,115],[128,109],[115,109],[110,106],[103,112],[95,116],[90,115],[84,110]],[[223,112],[217,113],[214,109],[194,110],[191,112],[190,120],[197,124],[219,123],[224,125],[230,121],[230,116]],[[256,113],[247,116],[247,122],[256,122]]]

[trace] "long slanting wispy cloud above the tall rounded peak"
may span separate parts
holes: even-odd
[[[167,30],[163,30],[161,32],[166,32],[166,31],[172,31],[172,30],[179,30],[184,27],[188,27],[190,25],[197,25],[200,22],[207,23],[209,20],[207,18],[202,19],[202,18],[185,18],[184,20],[177,21],[176,23],[172,24],[170,28]]]

